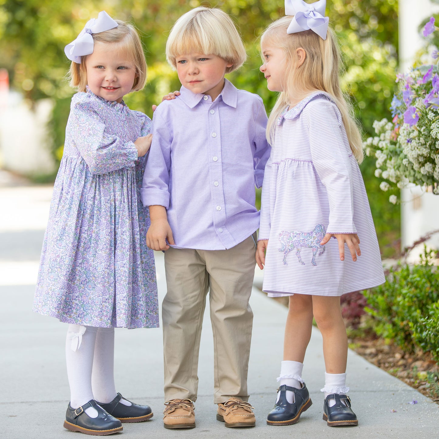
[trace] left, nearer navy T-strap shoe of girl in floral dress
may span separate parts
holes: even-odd
[[[89,407],[97,410],[97,417],[90,417],[86,414],[85,410]],[[121,432],[123,429],[119,419],[116,419],[99,407],[94,399],[90,399],[88,403],[77,409],[72,409],[70,404],[68,404],[64,428],[72,432],[81,432],[93,436],[112,435],[113,433]]]

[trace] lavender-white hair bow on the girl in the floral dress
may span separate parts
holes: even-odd
[[[99,12],[97,18],[89,20],[84,29],[79,32],[76,40],[64,48],[64,53],[70,61],[80,64],[81,56],[93,53],[94,43],[92,33],[104,32],[104,30],[113,29],[118,24],[105,12]]]

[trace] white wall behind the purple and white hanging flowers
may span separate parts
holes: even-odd
[[[418,27],[425,18],[439,12],[439,5],[430,0],[399,0],[399,69],[406,73],[425,40]],[[421,187],[404,189],[401,193],[401,245],[411,246],[421,236],[439,229],[439,195],[425,193]],[[439,248],[439,234],[428,241]],[[421,245],[422,247],[422,245]],[[411,260],[419,251],[411,252]]]

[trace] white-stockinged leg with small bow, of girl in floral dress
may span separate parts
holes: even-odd
[[[93,368],[94,346],[97,327],[69,325],[65,343],[68,384],[70,385],[70,406],[81,407],[93,399],[91,373]],[[97,417],[97,410],[85,410],[90,417]]]

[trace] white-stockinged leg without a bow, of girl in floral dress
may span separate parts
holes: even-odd
[[[98,403],[111,403],[117,395],[114,383],[114,328],[97,330],[91,387],[93,399]],[[132,405],[130,401],[123,398],[120,403],[125,406]]]

